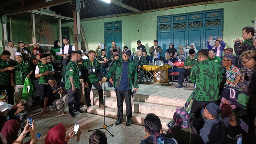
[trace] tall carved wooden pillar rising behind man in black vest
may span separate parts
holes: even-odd
[[[76,50],[81,50],[82,36],[80,34],[80,0],[72,0],[74,14],[74,43]]]

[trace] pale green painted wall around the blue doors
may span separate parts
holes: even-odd
[[[244,26],[254,27],[254,24],[251,22],[251,20],[256,18],[256,2],[254,0],[240,0],[218,4],[189,6],[132,16],[83,21],[80,23],[84,25],[86,40],[90,50],[95,50],[99,42],[104,43],[104,22],[122,20],[122,46],[128,46],[129,48],[132,48],[132,51],[134,52],[135,48],[137,48],[137,40],[141,40],[142,44],[146,46],[148,51],[149,47],[153,45],[154,39],[157,37],[157,16],[220,8],[224,8],[223,40],[226,42],[226,46],[233,47],[233,40],[236,38],[242,38],[242,28]],[[62,26],[70,26],[70,28],[72,25],[73,22],[62,24]],[[137,30],[140,30],[140,32]],[[70,35],[72,35],[72,33],[70,33]],[[70,42],[73,43],[73,40],[71,39]]]

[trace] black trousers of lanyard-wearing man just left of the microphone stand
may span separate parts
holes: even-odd
[[[98,90],[100,104],[103,104],[103,90],[102,90],[102,87],[99,85],[99,81],[94,82],[93,84],[88,84],[88,85],[89,85],[88,88],[84,88],[85,99],[86,99],[87,106],[92,105],[91,104],[91,99],[90,99],[90,92],[92,90],[92,85],[94,86],[94,88],[96,88]]]

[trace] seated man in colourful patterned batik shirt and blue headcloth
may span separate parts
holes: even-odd
[[[228,84],[229,86],[234,86],[239,88],[239,86],[236,83],[236,76],[241,73],[240,68],[234,66],[235,56],[233,54],[224,54],[224,57],[222,59],[222,64],[224,68],[226,69],[224,82]],[[226,80],[225,80],[226,79]]]

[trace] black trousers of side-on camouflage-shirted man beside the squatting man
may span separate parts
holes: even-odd
[[[74,110],[80,109],[80,96],[81,90],[76,89],[75,92],[72,92],[72,89],[68,89],[68,110],[69,112],[73,112]]]

